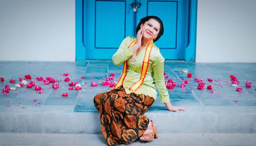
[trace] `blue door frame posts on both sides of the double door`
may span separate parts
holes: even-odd
[[[86,1],[75,0],[75,41],[76,41],[76,61],[86,61],[86,44],[84,43],[84,32],[86,31]],[[184,61],[196,61],[196,37],[197,37],[197,1],[189,1],[188,15],[188,38],[184,51]]]

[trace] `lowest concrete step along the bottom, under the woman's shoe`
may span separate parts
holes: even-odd
[[[255,145],[256,134],[248,133],[167,133],[150,142],[136,140],[135,145]],[[0,145],[106,145],[99,134],[0,133]],[[122,144],[124,145],[124,144]]]

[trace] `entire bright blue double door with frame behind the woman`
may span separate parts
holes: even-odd
[[[191,1],[196,8],[197,1]],[[76,0],[76,60],[112,59],[125,37],[136,36],[140,19],[155,15],[164,24],[164,34],[155,43],[163,57],[195,61],[196,26],[190,23],[191,1]],[[138,6],[136,12],[134,4]],[[81,8],[82,15],[78,11]],[[82,29],[78,26],[80,22]],[[188,45],[190,41],[193,41],[192,47]]]

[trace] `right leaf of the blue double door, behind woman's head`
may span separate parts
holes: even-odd
[[[136,22],[144,16],[158,16],[164,25],[163,36],[155,42],[165,59],[184,60],[187,37],[188,1],[140,1]]]

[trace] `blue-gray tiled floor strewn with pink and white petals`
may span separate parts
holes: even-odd
[[[187,73],[182,72],[183,69],[193,74],[192,78],[187,78]],[[8,94],[0,94],[0,111],[8,112],[47,112],[46,107],[49,106],[69,106],[65,111],[69,112],[97,112],[93,107],[92,99],[97,93],[106,92],[109,87],[101,86],[104,78],[111,73],[115,73],[115,80],[122,71],[122,66],[114,66],[111,61],[86,61],[86,62],[0,62],[0,77],[4,77],[5,81],[0,82],[0,88],[3,89],[6,84],[14,86],[10,83],[10,79],[24,78],[30,74],[33,81],[37,76],[44,78],[51,76],[61,79],[58,82],[59,89],[53,90],[49,85],[44,85],[42,81],[35,79],[36,85],[40,85],[44,89],[44,94],[37,94],[33,89],[22,87]],[[168,90],[173,105],[177,106],[256,106],[256,90],[254,80],[256,79],[256,63],[186,63],[182,61],[166,61],[165,72],[177,82],[174,90]],[[63,81],[65,76],[61,73],[69,73],[71,81],[86,83],[82,85],[81,91],[69,91],[68,83]],[[240,81],[238,87],[243,87],[242,93],[236,92],[236,87],[230,86],[231,81],[229,75],[233,74]],[[84,76],[85,79],[81,79]],[[205,84],[204,90],[197,90],[198,83],[194,78],[203,78]],[[213,78],[213,82],[208,82],[207,78]],[[185,89],[178,87],[181,79],[188,79],[190,82]],[[167,80],[167,78],[166,78]],[[70,82],[71,82],[70,81]],[[92,81],[98,82],[98,86],[91,87]],[[251,88],[245,87],[245,81],[252,82]],[[212,85],[215,94],[210,93],[206,89],[207,85]],[[69,96],[63,98],[62,93],[68,93]],[[40,104],[33,102],[37,100]],[[20,104],[19,104],[20,103]],[[11,105],[8,107],[8,105]],[[18,105],[18,106],[17,106]],[[158,100],[153,107],[164,106]],[[22,108],[24,107],[24,108]],[[74,110],[70,108],[74,107]],[[59,109],[61,110],[61,108]],[[152,108],[148,112],[158,111]]]

